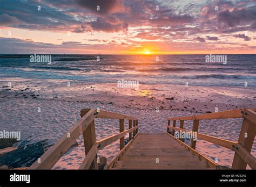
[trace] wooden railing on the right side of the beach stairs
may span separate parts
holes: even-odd
[[[195,116],[185,116],[185,117],[175,117],[168,118],[167,132],[172,129],[172,135],[174,135],[174,130],[184,131],[184,132],[197,132],[199,120],[207,119],[227,119],[227,118],[243,118],[242,127],[239,135],[238,142],[228,141],[214,136],[205,135],[202,133],[197,133],[197,138],[212,142],[215,145],[225,147],[235,151],[232,169],[246,169],[246,165],[250,166],[252,169],[256,168],[256,159],[250,153],[256,132],[256,109],[236,109],[223,112],[199,114]],[[170,126],[170,121],[173,121],[173,126]],[[176,127],[176,121],[180,120],[180,128]],[[184,130],[184,120],[193,120],[192,131]],[[190,147],[196,148],[196,141],[190,143]]]

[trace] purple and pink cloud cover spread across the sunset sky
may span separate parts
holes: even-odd
[[[37,5],[41,5],[41,11],[37,11]],[[97,5],[100,6],[100,11],[96,10]],[[156,11],[156,5],[159,5],[159,11]],[[218,5],[218,11],[214,10],[215,5]],[[117,44],[122,44],[122,42],[129,44],[129,47],[130,45],[143,45],[145,42],[159,42],[154,44],[166,44],[166,48],[168,48],[169,45],[177,41],[175,45],[182,46],[182,50],[185,51],[186,46],[190,48],[191,43],[193,46],[197,46],[198,42],[200,42],[202,50],[207,50],[207,47],[211,49],[212,46],[217,48],[215,42],[206,42],[208,40],[218,41],[218,44],[226,44],[228,47],[232,44],[237,46],[239,44],[234,37],[242,38],[245,41],[250,40],[249,37],[238,34],[243,31],[248,31],[250,37],[255,38],[255,15],[255,3],[244,0],[182,1],[178,3],[158,0],[31,0],[29,3],[28,1],[2,0],[0,26],[7,25],[23,30],[42,32],[87,33],[85,34],[88,37],[87,40],[82,39],[88,44],[87,46],[79,42],[80,40],[65,41],[66,38],[62,38],[60,35],[58,38],[62,38],[62,41],[65,42],[61,45],[53,45],[51,50],[53,48],[56,50],[58,48],[90,50],[88,46],[91,48],[97,46],[103,49],[105,45],[109,45],[110,47],[107,48],[112,49],[113,46],[118,46]],[[128,31],[129,35],[126,35]],[[186,33],[188,34],[185,35]],[[76,35],[81,36],[82,34]],[[27,35],[20,36],[20,38],[22,37],[26,38]],[[36,37],[33,38],[32,35],[29,38],[36,40]],[[225,38],[225,41],[220,38]],[[112,40],[117,41],[117,44],[111,42]],[[45,46],[50,47],[50,44],[32,41],[13,40],[12,42],[18,46],[38,46],[41,50]],[[227,44],[227,42],[229,43]],[[249,43],[248,46],[252,45]],[[12,45],[11,42],[6,44]],[[99,47],[99,45],[102,46]],[[125,47],[125,45],[119,46]],[[172,48],[171,50],[175,51],[176,49]]]

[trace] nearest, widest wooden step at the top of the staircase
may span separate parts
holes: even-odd
[[[207,169],[204,161],[116,161],[118,169]]]

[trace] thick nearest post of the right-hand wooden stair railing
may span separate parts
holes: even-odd
[[[238,138],[240,143],[249,153],[251,152],[253,141],[255,136],[255,124],[248,119],[244,118],[242,121],[242,127]],[[236,149],[239,149],[236,147]],[[234,154],[232,163],[232,169],[246,169],[246,162],[239,156],[237,152]]]

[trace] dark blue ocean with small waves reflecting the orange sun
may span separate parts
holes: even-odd
[[[93,60],[84,60],[93,56]],[[206,55],[57,55],[52,63],[30,62],[30,55],[0,55],[0,74],[22,78],[140,84],[256,87],[256,55],[227,55],[226,64]]]

